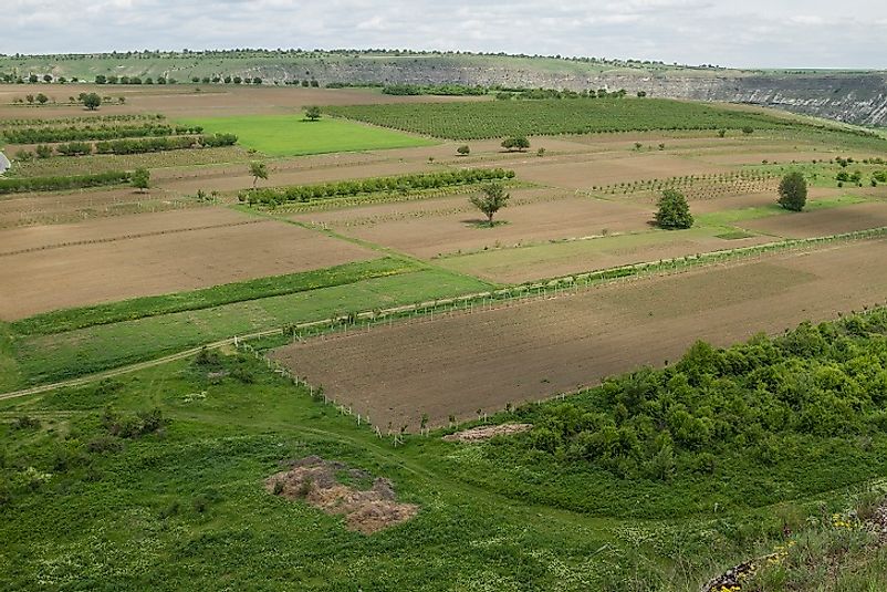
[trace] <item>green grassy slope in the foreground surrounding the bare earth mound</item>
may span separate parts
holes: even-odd
[[[9,568],[0,586],[691,590],[779,537],[784,518],[803,523],[816,511],[787,503],[639,521],[529,505],[469,482],[477,475],[463,467],[483,448],[421,437],[394,448],[261,363],[225,364],[253,382],[209,380],[179,362],[0,402],[0,557]],[[90,451],[88,443],[107,442],[98,420],[107,405],[158,407],[171,424],[121,442],[119,451]],[[24,414],[41,426],[13,429]],[[279,461],[312,454],[392,479],[419,516],[366,537],[262,490]],[[533,470],[522,479],[532,482]],[[843,496],[833,497],[841,507]]]

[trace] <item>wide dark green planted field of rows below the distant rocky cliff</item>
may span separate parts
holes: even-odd
[[[665,98],[564,98],[400,103],[331,106],[341,117],[450,139],[502,136],[647,132],[653,129],[760,129],[800,126],[764,114]]]

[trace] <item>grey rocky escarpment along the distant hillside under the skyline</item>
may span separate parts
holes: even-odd
[[[252,75],[265,80],[311,76],[330,82],[383,84],[502,85],[546,89],[625,89],[653,96],[750,103],[815,115],[857,125],[887,125],[887,74],[797,73],[754,74],[741,71],[644,70],[595,71],[564,62],[562,69],[534,67],[532,60],[497,63],[495,59],[448,58],[399,60],[317,61],[257,67]],[[249,74],[249,73],[247,73]]]

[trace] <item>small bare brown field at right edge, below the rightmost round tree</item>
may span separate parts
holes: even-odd
[[[740,224],[754,232],[789,238],[823,237],[887,226],[887,202],[801,211]]]

